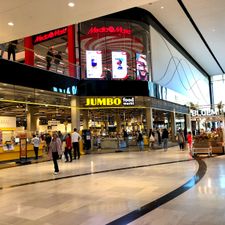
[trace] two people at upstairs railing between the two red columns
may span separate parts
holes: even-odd
[[[62,52],[55,51],[54,47],[50,47],[46,54],[46,69],[50,70],[52,61],[54,61],[56,72],[58,71],[58,67],[60,62],[62,61]]]

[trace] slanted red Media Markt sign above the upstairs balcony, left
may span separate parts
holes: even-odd
[[[67,33],[67,27],[49,31],[49,32],[46,32],[43,34],[39,34],[39,35],[33,36],[33,43],[38,44],[43,41],[47,41],[47,40],[50,40],[50,39],[53,39],[56,37],[60,37],[66,33]]]

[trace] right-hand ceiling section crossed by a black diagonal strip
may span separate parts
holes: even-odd
[[[150,11],[209,75],[223,74],[225,1],[183,0],[182,2],[223,70],[177,0],[160,0],[142,8]]]

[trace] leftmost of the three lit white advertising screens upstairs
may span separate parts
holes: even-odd
[[[101,78],[102,76],[102,52],[86,51],[87,78]]]

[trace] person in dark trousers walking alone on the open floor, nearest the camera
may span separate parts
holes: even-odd
[[[59,166],[57,159],[62,155],[62,143],[58,138],[57,133],[53,134],[51,143],[49,145],[49,156],[52,158],[54,163],[54,174],[57,175],[59,173]]]

